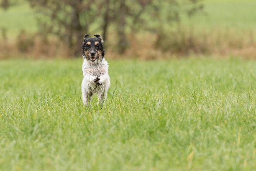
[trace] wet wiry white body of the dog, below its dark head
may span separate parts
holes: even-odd
[[[82,65],[83,81],[82,81],[82,99],[84,105],[90,105],[92,94],[98,94],[98,105],[102,105],[107,98],[108,88],[110,87],[110,77],[108,76],[108,62],[103,58],[97,59],[95,62],[88,61],[84,58]],[[96,78],[100,78],[95,82]]]

